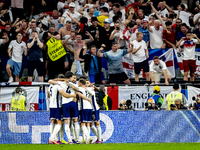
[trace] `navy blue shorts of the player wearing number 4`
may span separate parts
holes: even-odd
[[[79,111],[76,102],[71,101],[63,104],[63,119],[76,119],[79,116]]]

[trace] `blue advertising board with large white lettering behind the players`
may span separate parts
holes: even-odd
[[[0,144],[47,144],[49,112],[0,112]],[[199,142],[200,111],[101,111],[104,143]],[[93,141],[96,136],[91,132]],[[67,137],[64,134],[66,141]],[[80,137],[81,139],[81,137]]]

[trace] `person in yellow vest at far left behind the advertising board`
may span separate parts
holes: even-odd
[[[23,94],[22,94],[23,92]],[[26,111],[28,110],[27,92],[25,89],[17,87],[12,93],[11,111]]]

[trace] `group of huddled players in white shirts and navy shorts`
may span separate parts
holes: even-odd
[[[47,93],[51,124],[48,143],[89,144],[93,141],[90,130],[97,136],[93,143],[102,143],[99,106],[90,81],[82,77],[76,83],[76,76],[68,71],[65,75],[59,74],[58,78],[49,80],[49,83],[51,85]],[[82,140],[79,137],[80,130]],[[68,142],[64,140],[64,131]]]

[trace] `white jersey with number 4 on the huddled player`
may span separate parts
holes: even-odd
[[[71,83],[71,82],[70,82],[70,84],[72,84],[72,85],[74,85],[74,86],[77,87],[76,84],[73,84],[73,83]],[[61,82],[61,83],[60,83],[60,87],[61,87],[61,88],[64,90],[64,92],[67,93],[67,94],[75,94],[75,93],[76,93],[76,91],[75,91],[74,89],[72,89],[71,87],[69,87],[65,82]],[[74,99],[73,97],[66,98],[66,97],[62,96],[62,104],[67,104],[67,103],[73,101],[73,99]]]

